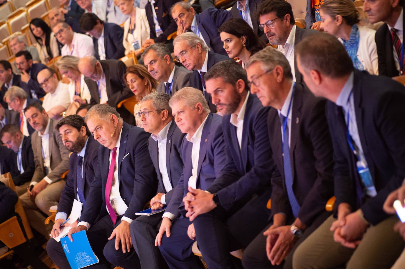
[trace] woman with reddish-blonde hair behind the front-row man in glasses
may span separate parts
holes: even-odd
[[[143,128],[141,118],[136,113],[141,109],[142,98],[156,91],[159,81],[149,74],[145,66],[140,64],[127,68],[127,72],[124,74],[124,81],[127,87],[134,93],[136,101],[138,101],[134,107],[136,126]]]

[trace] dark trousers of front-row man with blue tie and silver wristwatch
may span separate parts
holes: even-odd
[[[305,229],[303,235],[296,241],[294,247],[287,255],[286,260],[281,265],[271,265],[271,262],[267,258],[266,254],[266,236],[263,235],[264,231],[269,229],[273,222],[267,225],[264,230],[259,233],[256,238],[247,246],[243,251],[242,264],[245,269],[269,269],[269,268],[285,268],[292,269],[292,256],[294,250],[313,232],[317,229],[325,220],[330,216],[331,212],[323,212],[320,214],[313,223]],[[291,225],[294,219],[290,219],[287,223]]]

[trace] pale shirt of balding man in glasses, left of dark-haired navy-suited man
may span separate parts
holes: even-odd
[[[70,46],[65,44],[61,50],[62,56],[73,55],[79,58],[94,56],[93,39],[85,34],[73,33],[73,39]]]

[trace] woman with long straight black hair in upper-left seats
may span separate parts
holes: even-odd
[[[53,57],[60,55],[58,42],[51,28],[42,19],[32,19],[30,22],[31,33],[38,42],[39,58],[43,64],[47,64]]]

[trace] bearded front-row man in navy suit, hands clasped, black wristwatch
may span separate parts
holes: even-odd
[[[183,201],[208,267],[241,268],[229,252],[245,248],[270,215],[266,204],[274,163],[266,127],[269,108],[248,93],[245,70],[234,60],[215,64],[205,77],[207,92],[224,115],[227,159],[209,193],[189,187]],[[233,241],[238,243],[229,244]]]

